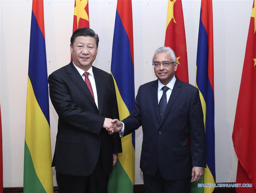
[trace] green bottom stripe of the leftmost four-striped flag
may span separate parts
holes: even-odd
[[[41,193],[41,192],[46,192],[44,190],[43,185],[41,184],[33,162],[32,162],[32,158],[30,155],[30,151],[28,149],[27,143],[25,141],[25,148],[24,148],[24,182],[23,182],[23,186],[24,186],[24,193]]]

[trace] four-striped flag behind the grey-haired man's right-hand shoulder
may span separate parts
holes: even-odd
[[[212,0],[201,1],[197,44],[196,87],[199,89],[204,113],[206,135],[206,167],[199,183],[215,183],[215,132],[214,132],[214,73],[213,73],[213,24]],[[192,184],[191,192],[210,193],[214,188],[198,189]]]

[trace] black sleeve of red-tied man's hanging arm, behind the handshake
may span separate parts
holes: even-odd
[[[112,80],[112,89],[113,89],[113,119],[118,119],[119,120],[119,112],[118,112],[118,105],[117,105],[117,98],[116,98],[116,92],[115,92],[115,83],[113,80],[113,77],[111,75],[111,80]],[[121,138],[119,137],[119,133],[114,133],[112,135],[112,141],[114,144],[114,150],[113,153],[122,153],[122,143],[121,143]]]

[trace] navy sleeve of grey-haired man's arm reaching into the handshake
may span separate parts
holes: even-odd
[[[122,121],[125,125],[123,136],[129,135],[131,132],[141,126],[140,93],[141,86],[139,87],[138,94],[135,98],[135,106],[133,108],[133,111],[131,112],[131,115]]]

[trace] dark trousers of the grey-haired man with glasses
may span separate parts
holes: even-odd
[[[179,180],[164,180],[159,169],[154,176],[143,173],[145,193],[190,193],[191,176]]]

